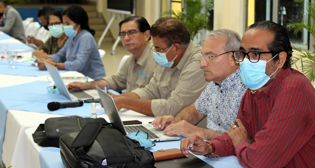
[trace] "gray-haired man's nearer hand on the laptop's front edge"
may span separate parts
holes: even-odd
[[[181,120],[178,123],[171,124],[163,130],[164,134],[180,134],[181,136],[184,136],[186,138],[192,136],[193,134],[196,134],[197,132],[201,132],[200,128],[188,123],[186,120]]]

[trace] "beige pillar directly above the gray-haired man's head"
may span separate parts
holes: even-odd
[[[215,0],[213,29],[231,29],[244,34],[245,0]]]

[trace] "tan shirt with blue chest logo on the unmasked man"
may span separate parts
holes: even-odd
[[[150,43],[148,43],[137,63],[135,57],[131,55],[118,73],[103,79],[108,82],[112,90],[119,92],[127,89],[127,93],[130,93],[136,88],[143,88],[149,84],[157,65]]]

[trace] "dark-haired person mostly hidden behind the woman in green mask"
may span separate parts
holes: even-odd
[[[38,21],[39,23],[42,23],[43,24],[43,27],[46,29],[46,30],[49,30],[48,29],[48,24],[49,24],[49,21],[48,21],[48,17],[50,14],[52,14],[53,12],[55,11],[55,9],[51,6],[43,6],[42,8],[40,8],[37,12],[37,18],[38,18]],[[35,44],[37,47],[43,45],[45,42],[47,41],[47,38],[46,39],[43,39],[43,40],[38,40],[36,38],[34,38],[34,36],[27,36],[27,43],[28,44]]]

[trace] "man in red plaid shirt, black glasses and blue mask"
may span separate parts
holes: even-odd
[[[236,155],[244,167],[315,167],[315,89],[290,68],[292,47],[286,29],[272,21],[248,27],[239,51],[245,92],[235,124],[225,134],[204,142],[183,139],[194,154]]]

